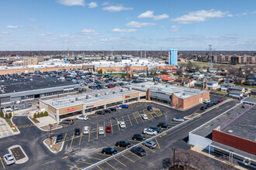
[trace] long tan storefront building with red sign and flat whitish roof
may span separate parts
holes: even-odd
[[[114,88],[57,99],[40,100],[40,109],[46,109],[51,117],[60,122],[65,117],[76,114],[85,115],[85,113],[93,110],[106,109],[133,100],[139,101],[145,97],[145,92],[127,88]]]

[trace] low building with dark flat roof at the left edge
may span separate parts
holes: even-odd
[[[79,84],[42,76],[21,80],[5,80],[0,85],[0,104],[60,96],[78,92],[80,88]]]

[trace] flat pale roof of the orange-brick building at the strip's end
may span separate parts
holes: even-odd
[[[147,91],[147,89],[150,89],[151,91],[168,94],[170,96],[172,93],[174,93],[175,96],[181,99],[192,97],[199,93],[205,93],[207,91],[207,90],[199,90],[199,89],[189,88],[189,87],[174,86],[168,83],[154,83],[154,82],[134,83],[126,87],[132,87],[133,89],[144,90],[144,91]]]

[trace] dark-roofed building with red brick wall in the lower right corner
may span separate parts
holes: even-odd
[[[248,97],[250,98],[250,97]],[[256,100],[241,101],[213,120],[189,132],[189,145],[227,155],[244,165],[256,168]],[[253,104],[252,104],[253,103]]]

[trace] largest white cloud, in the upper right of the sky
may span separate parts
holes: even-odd
[[[212,18],[223,18],[229,15],[228,12],[221,12],[211,9],[209,11],[200,10],[196,12],[189,12],[187,15],[182,15],[176,19],[171,19],[171,21],[178,22],[181,24],[191,24],[194,22],[205,22],[206,19]]]

